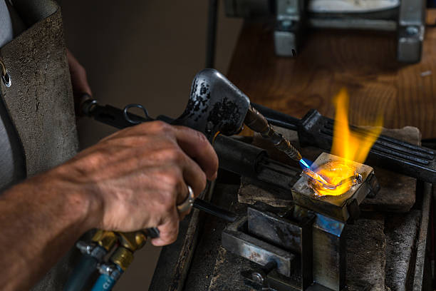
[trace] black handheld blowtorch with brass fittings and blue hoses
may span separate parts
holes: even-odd
[[[140,117],[129,113],[128,110],[134,107],[142,109],[145,116]],[[116,128],[126,128],[155,120],[150,118],[145,108],[138,104],[130,104],[124,110],[120,110],[112,106],[100,106],[89,96],[83,98],[79,112]],[[310,165],[303,160],[299,150],[294,148],[287,138],[277,133],[266,118],[251,106],[249,98],[214,69],[204,69],[197,73],[192,82],[190,100],[182,116],[175,120],[166,116],[158,116],[157,120],[194,128],[204,133],[212,144],[219,133],[224,134],[224,136],[232,136],[239,133],[243,125],[246,124],[256,133],[260,133],[263,138],[271,141],[289,158],[299,162],[301,168],[305,169],[306,172],[317,175],[312,172]],[[321,183],[324,182],[328,185],[325,180],[321,180]],[[329,185],[329,187],[334,187],[334,185]],[[192,206],[228,222],[236,219],[233,213],[217,208],[215,205],[198,198]],[[92,242],[78,242],[78,248],[84,254],[83,260],[81,265],[76,267],[64,290],[81,290],[94,270],[99,270],[101,275],[95,282],[93,290],[103,290],[103,286],[105,286],[104,290],[111,290],[133,260],[133,252],[142,247],[147,238],[158,235],[159,232],[155,228],[133,233],[100,230]],[[108,262],[104,262],[104,257],[108,253],[112,253],[112,255]]]

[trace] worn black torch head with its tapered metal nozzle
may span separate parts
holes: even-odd
[[[182,116],[172,121],[172,124],[197,129],[212,143],[218,133],[225,136],[239,133],[244,123],[274,143],[289,158],[297,162],[301,160],[299,151],[251,107],[249,98],[214,69],[207,68],[197,73],[192,81],[187,108]]]

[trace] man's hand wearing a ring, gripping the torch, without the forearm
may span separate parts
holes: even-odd
[[[160,121],[119,131],[56,169],[56,175],[87,193],[90,227],[133,231],[157,227],[154,245],[177,238],[176,205],[195,197],[216,178],[217,155],[207,139],[190,128]]]

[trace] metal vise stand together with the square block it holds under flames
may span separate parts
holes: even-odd
[[[342,158],[321,153],[316,165]],[[349,163],[349,162],[348,162]],[[227,226],[222,245],[261,265],[242,273],[255,290],[343,290],[346,278],[343,229],[360,215],[359,204],[380,189],[373,168],[353,163],[360,183],[338,196],[316,198],[303,175],[292,188],[294,205],[273,208],[256,203]],[[274,262],[274,267],[268,267]]]

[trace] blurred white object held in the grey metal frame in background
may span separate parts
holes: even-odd
[[[308,11],[315,13],[365,13],[400,6],[400,0],[310,0]]]

